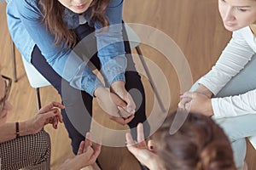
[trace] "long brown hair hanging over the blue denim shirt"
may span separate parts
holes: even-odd
[[[90,20],[92,23],[99,22],[102,27],[109,26],[105,16],[106,8],[110,0],[93,0],[90,7]],[[73,30],[68,30],[63,20],[65,7],[57,0],[40,0],[44,14],[43,22],[50,33],[55,36],[55,46],[60,45],[65,39],[65,47],[73,47],[77,42],[77,36]]]

